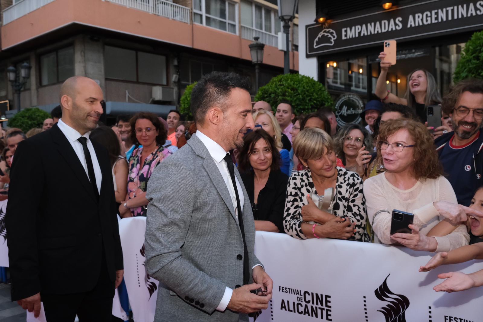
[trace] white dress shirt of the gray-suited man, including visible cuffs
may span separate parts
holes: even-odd
[[[237,220],[238,220],[237,197],[235,195],[235,190],[233,189],[233,184],[231,183],[231,177],[230,177],[230,173],[228,172],[227,161],[223,160],[223,158],[225,158],[225,156],[227,155],[227,151],[225,151],[223,147],[221,147],[218,143],[214,142],[208,136],[206,136],[202,132],[199,132],[199,130],[196,131],[196,136],[198,136],[201,142],[206,146],[206,148],[208,149],[208,152],[210,152],[210,155],[213,158],[214,163],[218,167],[218,170],[220,170],[221,176],[223,177],[223,180],[227,185],[228,192],[230,193],[231,202],[233,203],[233,208],[235,209],[235,214],[237,215]],[[240,206],[241,206],[241,209],[243,209],[243,203],[245,201],[243,197],[243,190],[241,189],[240,182],[238,181],[238,178],[236,176],[235,176],[235,181],[237,183],[238,197],[240,198]],[[261,266],[261,265],[256,264],[255,266],[252,267],[252,270],[256,266]],[[221,302],[218,305],[218,307],[216,307],[216,310],[221,312],[226,310],[232,294],[233,294],[233,290],[226,286],[225,294],[223,294]]]

